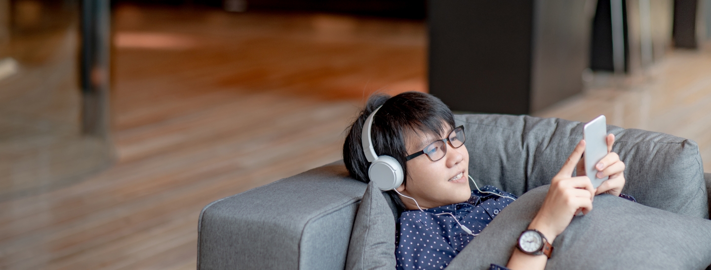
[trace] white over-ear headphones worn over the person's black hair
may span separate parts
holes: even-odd
[[[363,124],[363,132],[360,133],[360,142],[363,144],[363,153],[365,159],[370,162],[368,167],[368,177],[370,181],[375,182],[375,186],[382,191],[396,189],[402,184],[404,175],[402,174],[402,165],[397,162],[397,159],[390,156],[378,156],[375,154],[373,142],[370,140],[370,127],[373,126],[373,116],[380,110],[380,106],[370,113],[368,119],[365,119]]]

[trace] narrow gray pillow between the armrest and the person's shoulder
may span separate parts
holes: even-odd
[[[374,182],[355,215],[346,269],[395,269],[395,217]]]

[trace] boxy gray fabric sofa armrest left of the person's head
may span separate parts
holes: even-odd
[[[366,186],[339,161],[210,203],[198,269],[343,269]]]

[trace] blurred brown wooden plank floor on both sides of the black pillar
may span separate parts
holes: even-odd
[[[340,159],[363,96],[427,90],[422,22],[119,6],[114,24],[118,162],[1,202],[0,269],[195,269],[203,206]],[[537,115],[689,136],[708,165],[710,57]]]

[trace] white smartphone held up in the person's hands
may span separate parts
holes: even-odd
[[[583,127],[585,140],[585,175],[592,181],[592,187],[597,189],[609,177],[597,178],[595,165],[607,155],[607,125],[605,116],[598,116]]]

